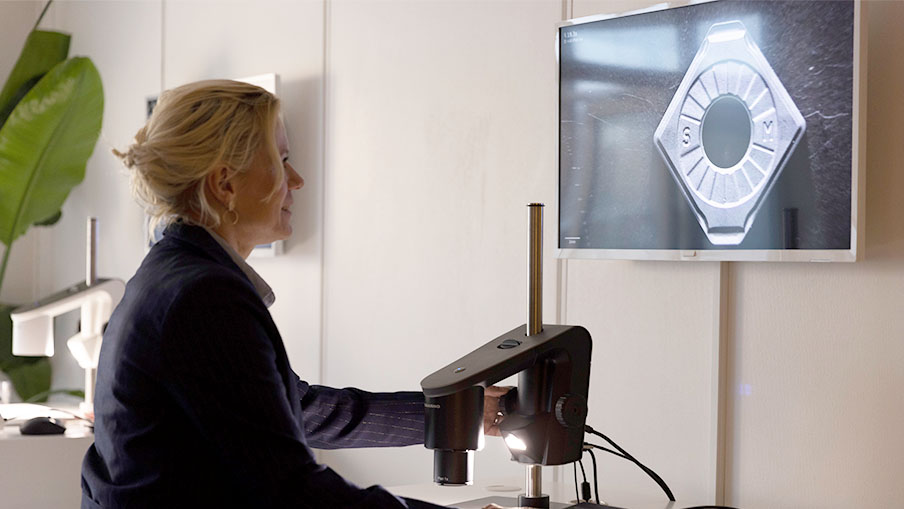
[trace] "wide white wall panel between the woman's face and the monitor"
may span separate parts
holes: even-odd
[[[427,374],[526,321],[529,202],[550,205],[552,252],[562,5],[330,9],[325,381],[418,390]],[[547,322],[554,285],[548,259]],[[523,475],[501,440],[489,448],[477,455],[478,478]],[[431,479],[421,447],[324,458],[366,484]]]

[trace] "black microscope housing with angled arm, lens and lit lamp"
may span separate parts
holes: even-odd
[[[499,336],[421,381],[425,440],[434,449],[434,481],[471,484],[473,451],[483,435],[484,388],[518,374],[518,387],[502,399],[499,429],[512,460],[563,465],[581,458],[590,333],[580,326],[543,325],[527,336],[524,325]]]

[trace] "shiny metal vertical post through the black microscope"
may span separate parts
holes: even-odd
[[[527,336],[543,331],[543,204],[527,206],[528,234],[528,291]],[[519,377],[520,378],[520,377]],[[522,384],[518,384],[521,386]],[[540,465],[527,465],[524,494],[528,498],[543,496],[543,470]]]

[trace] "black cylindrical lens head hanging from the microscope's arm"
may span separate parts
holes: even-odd
[[[471,484],[474,451],[483,436],[483,387],[427,398],[424,446],[433,449],[433,480],[442,485]]]

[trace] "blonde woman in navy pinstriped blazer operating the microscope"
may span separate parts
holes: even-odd
[[[422,444],[423,395],[313,386],[289,366],[273,292],[244,261],[292,233],[304,185],[278,99],[233,81],[170,90],[116,154],[168,226],[104,334],[82,507],[438,507],[314,460]],[[495,408],[504,391],[487,392]]]

